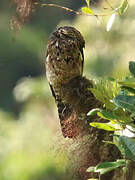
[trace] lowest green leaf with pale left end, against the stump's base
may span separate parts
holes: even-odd
[[[119,159],[116,162],[103,162],[95,167],[95,172],[100,172],[100,174],[105,174],[112,171],[120,166],[126,166],[125,159]]]

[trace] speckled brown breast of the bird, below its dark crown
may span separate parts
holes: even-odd
[[[48,47],[46,76],[50,84],[65,84],[82,74],[82,56],[73,41],[56,40]]]

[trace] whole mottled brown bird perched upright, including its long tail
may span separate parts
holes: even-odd
[[[83,75],[84,47],[85,40],[83,36],[76,28],[71,26],[62,26],[56,29],[47,44],[46,78],[58,107],[64,137],[70,136],[67,135],[68,130],[72,131],[72,123],[69,121],[70,119],[72,121],[77,114],[73,109],[74,103],[70,103],[66,99],[68,92],[65,87],[71,80]],[[73,112],[74,115],[65,120]]]

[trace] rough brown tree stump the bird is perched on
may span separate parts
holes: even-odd
[[[69,179],[98,178],[99,174],[88,173],[86,172],[87,168],[96,166],[100,162],[115,161],[121,158],[121,154],[115,145],[103,142],[103,140],[112,141],[113,137],[110,136],[112,133],[89,125],[89,122],[101,122],[101,119],[96,116],[90,119],[87,113],[93,108],[103,106],[91,93],[90,88],[92,88],[92,82],[81,76],[72,79],[61,88],[62,103],[65,106],[70,104],[70,111],[67,112],[68,108],[66,112],[63,111],[60,121],[64,127],[64,134],[73,138],[69,155]],[[74,146],[75,148],[72,149]],[[100,180],[116,180],[117,177],[119,180],[123,180],[123,173],[120,168],[102,175]]]

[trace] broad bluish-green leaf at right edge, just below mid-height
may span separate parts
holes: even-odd
[[[114,103],[135,114],[135,96],[119,95],[114,98]]]

